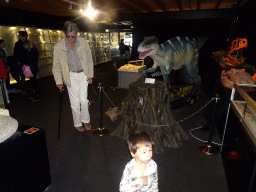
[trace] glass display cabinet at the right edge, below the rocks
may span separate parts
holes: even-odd
[[[247,135],[256,145],[256,85],[234,84],[230,104]]]

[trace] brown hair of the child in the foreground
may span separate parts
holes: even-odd
[[[150,146],[154,142],[151,140],[150,136],[145,131],[132,132],[127,138],[128,148],[131,153],[135,154],[138,149],[138,144],[144,144]]]

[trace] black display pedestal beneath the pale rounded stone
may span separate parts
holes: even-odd
[[[19,125],[13,136],[0,143],[0,191],[42,192],[51,184],[44,130],[24,133],[29,128]]]

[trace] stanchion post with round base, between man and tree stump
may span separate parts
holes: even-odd
[[[109,133],[109,129],[106,129],[106,128],[103,127],[102,89],[103,89],[103,86],[102,86],[101,83],[99,83],[100,127],[92,130],[92,133],[93,133],[94,135],[99,135],[99,136],[103,136],[103,135]]]

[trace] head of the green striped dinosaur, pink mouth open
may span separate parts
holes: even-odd
[[[158,39],[155,36],[146,37],[138,46],[139,58],[145,59],[154,55],[159,49]]]

